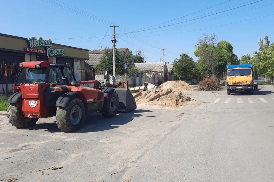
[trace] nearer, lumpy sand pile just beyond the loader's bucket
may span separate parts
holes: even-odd
[[[134,98],[135,101],[139,103],[172,108],[180,107],[183,106],[185,102],[193,101],[190,97],[182,94],[181,91],[174,91],[170,88],[158,88],[138,92]]]

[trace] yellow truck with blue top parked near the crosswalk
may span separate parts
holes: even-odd
[[[227,95],[231,93],[248,93],[253,95],[253,89],[258,88],[253,82],[252,64],[227,65]]]

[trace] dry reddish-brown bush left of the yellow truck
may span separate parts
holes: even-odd
[[[202,81],[198,84],[199,90],[221,90],[219,85],[219,79],[216,76],[205,76]]]

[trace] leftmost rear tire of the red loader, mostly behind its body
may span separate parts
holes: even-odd
[[[38,119],[24,117],[22,107],[23,104],[21,99],[19,99],[16,104],[10,104],[7,110],[9,122],[16,128],[28,128],[34,126]]]

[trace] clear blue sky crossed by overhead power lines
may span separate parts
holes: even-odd
[[[70,8],[70,11],[77,11],[77,14],[83,13],[84,16],[88,17],[77,15],[44,1],[52,4],[58,3],[66,7],[67,5],[70,5],[71,7],[68,7]],[[258,50],[258,41],[260,38],[264,38],[265,35],[268,35],[270,42],[274,42],[274,16],[271,15],[274,14],[274,0],[263,0],[261,2],[233,9],[224,13],[192,20],[196,16],[201,17],[200,15],[204,15],[207,13],[209,13],[207,15],[210,15],[212,14],[211,12],[218,13],[221,9],[224,9],[222,11],[225,11],[231,8],[239,7],[239,4],[242,3],[244,3],[242,5],[246,5],[248,3],[253,3],[259,0],[231,0],[223,3],[225,1],[228,0],[0,1],[0,32],[26,38],[42,36],[44,39],[51,39],[53,43],[85,49],[96,49],[96,47],[98,47],[98,45],[102,41],[104,34],[109,28],[109,22],[114,22],[117,25],[120,25],[119,28],[116,28],[118,41],[117,47],[128,47],[133,52],[138,49],[143,49],[146,56],[145,60],[148,62],[160,61],[160,57],[162,57],[162,48],[167,49],[165,51],[165,61],[172,62],[174,57],[178,57],[178,55],[181,53],[188,53],[190,56],[194,57],[194,60],[197,60],[197,58],[194,56],[194,44],[197,42],[197,38],[203,33],[215,33],[218,40],[229,41],[233,45],[234,53],[238,56],[238,58],[247,53],[252,55],[252,52],[254,50]],[[64,5],[62,3],[65,3],[67,5]],[[219,3],[223,4],[212,7]],[[76,9],[73,9],[72,7]],[[212,8],[206,9],[208,7]],[[203,9],[206,10],[195,13]],[[250,9],[253,10],[247,11]],[[83,11],[89,14],[86,14]],[[195,14],[168,23],[164,23],[166,21],[179,18],[191,13]],[[103,18],[104,20],[107,20],[107,22],[102,23],[95,21],[94,19],[90,18],[90,16],[92,15]],[[258,18],[266,15],[271,16]],[[217,19],[210,20],[213,18]],[[252,18],[258,19],[239,22]],[[186,19],[191,21],[148,31],[123,34],[124,32],[133,32],[136,30],[154,26],[156,24],[164,23],[158,25],[163,26]],[[239,23],[230,24],[233,22]],[[229,25],[219,26],[223,24]],[[219,27],[209,28],[214,26]],[[111,34],[112,29],[110,28],[100,47],[112,46],[112,42],[110,41]]]

